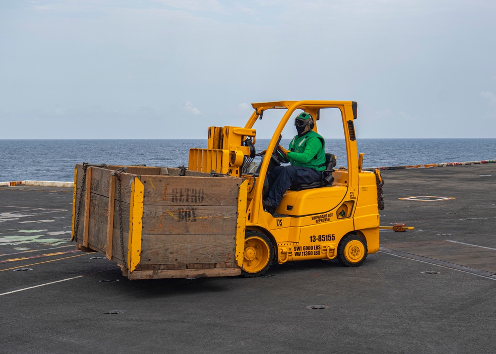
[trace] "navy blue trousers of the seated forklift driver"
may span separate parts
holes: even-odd
[[[269,182],[267,200],[277,207],[291,184],[319,182],[321,175],[322,173],[308,167],[277,166],[267,175]]]

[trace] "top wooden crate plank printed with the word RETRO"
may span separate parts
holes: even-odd
[[[145,205],[238,205],[243,178],[141,176]]]

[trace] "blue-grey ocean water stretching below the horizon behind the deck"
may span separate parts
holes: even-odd
[[[257,139],[256,150],[269,139]],[[283,139],[287,147],[290,139]],[[206,139],[147,140],[0,140],[0,182],[72,181],[74,165],[187,166],[189,148],[205,148]],[[344,140],[326,139],[326,151],[346,166]],[[424,165],[496,159],[496,139],[360,139],[364,168]]]

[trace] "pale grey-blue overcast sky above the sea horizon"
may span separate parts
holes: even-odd
[[[495,19],[494,0],[1,0],[0,139],[206,138],[304,99],[357,101],[359,138],[495,138]]]

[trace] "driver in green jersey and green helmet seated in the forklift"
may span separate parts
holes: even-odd
[[[262,205],[270,214],[274,214],[291,185],[320,181],[325,170],[325,141],[312,130],[312,116],[306,112],[300,113],[295,118],[295,126],[298,134],[289,143],[289,151],[279,146],[291,166],[277,166],[267,175],[269,189]]]

